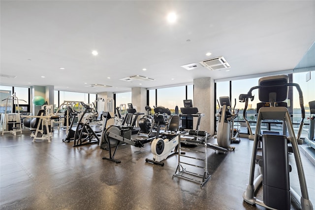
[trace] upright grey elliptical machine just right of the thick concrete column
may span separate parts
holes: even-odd
[[[235,150],[234,146],[230,146],[231,143],[239,143],[240,140],[236,140],[238,136],[238,131],[236,131],[236,134],[234,134],[234,119],[237,117],[237,113],[235,113],[235,105],[233,108],[233,111],[231,110],[231,102],[230,98],[228,96],[223,96],[219,98],[219,106],[220,111],[216,114],[217,117],[219,117],[218,122],[218,132],[217,135],[214,136],[214,138],[217,138],[218,146],[221,146],[223,148],[227,148],[230,150]]]

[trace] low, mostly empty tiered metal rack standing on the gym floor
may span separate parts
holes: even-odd
[[[207,137],[208,134],[206,131],[189,131],[189,136],[204,136],[204,141],[196,141],[196,140],[189,140],[189,139],[185,139],[185,136],[188,136],[187,134],[180,134],[179,139],[180,139],[180,143],[178,144],[178,165],[176,168],[176,171],[173,175],[173,177],[177,176],[180,178],[184,178],[186,180],[189,181],[193,181],[196,183],[200,184],[200,187],[202,187],[207,181],[208,179],[211,177],[211,175],[208,172],[208,161],[207,161]],[[198,139],[198,138],[195,138]],[[203,146],[203,149],[194,149],[194,148],[187,148],[187,147],[182,147],[181,143],[186,143],[186,144],[192,144],[192,145],[196,145],[196,146]],[[200,147],[199,147],[200,148]],[[189,151],[189,154],[198,154],[201,153],[204,155],[204,158],[199,158],[199,157],[195,157],[195,156],[189,156],[186,152],[182,151]],[[185,160],[197,160],[200,161],[200,165],[194,165],[189,163],[189,161],[184,162]],[[201,164],[201,162],[203,162],[203,164]],[[200,175],[196,172],[190,172],[187,171],[186,168],[183,167],[183,165],[189,165],[191,167],[195,167],[196,170],[197,169],[203,169],[203,175]],[[200,171],[200,170],[199,170]]]

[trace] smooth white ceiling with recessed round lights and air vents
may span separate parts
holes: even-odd
[[[175,24],[166,21],[170,11]],[[17,76],[1,84],[76,92],[292,70],[315,41],[314,0],[1,0],[0,12],[0,71]],[[218,56],[230,71],[180,67]],[[135,74],[155,80],[120,80]]]

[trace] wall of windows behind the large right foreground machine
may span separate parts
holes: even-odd
[[[290,75],[289,75],[290,76]],[[311,77],[309,81],[306,81],[306,78]],[[229,87],[229,81],[224,82],[216,82],[216,97],[219,100],[220,96],[229,96],[229,88],[231,90],[231,105],[232,108],[235,103],[236,99],[236,106],[235,110],[239,111],[238,117],[235,119],[234,128],[240,129],[241,133],[248,134],[247,125],[243,118],[243,111],[244,111],[244,103],[239,102],[239,95],[240,94],[247,94],[251,87],[258,85],[258,80],[261,77],[250,78],[250,79],[241,79],[241,80],[232,80],[231,87]],[[315,71],[312,72],[300,72],[300,73],[293,73],[292,74],[293,82],[298,83],[303,92],[304,98],[304,106],[306,110],[306,114],[309,114],[309,106],[308,102],[315,100]],[[294,128],[297,130],[298,124],[301,121],[301,109],[299,105],[299,96],[296,88],[292,88],[292,97],[291,99],[290,94],[288,94],[288,99],[285,101],[287,102],[288,108],[290,110],[290,106],[293,106],[292,114],[292,122],[294,123]],[[258,90],[253,90],[252,95],[254,96],[254,100],[249,100],[249,105],[246,111],[246,118],[250,121],[252,132],[254,132],[256,127],[257,121],[257,103],[259,103],[258,98]],[[218,105],[217,105],[217,113],[218,113]],[[309,114],[310,115],[310,114]],[[307,117],[307,116],[306,116]],[[305,127],[304,131],[308,130],[308,123],[309,120],[305,119]],[[279,131],[282,132],[282,122],[264,122],[261,125],[261,129],[263,130],[271,130],[271,131]],[[303,135],[306,135],[307,132],[303,132]]]

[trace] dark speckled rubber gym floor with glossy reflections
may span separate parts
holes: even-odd
[[[116,159],[121,163],[117,164],[103,160],[108,151],[96,144],[73,147],[73,142],[63,142],[63,138],[64,130],[55,131],[51,143],[32,142],[30,132],[0,137],[1,210],[264,209],[242,198],[249,180],[251,140],[242,138],[240,144],[233,144],[235,151],[226,154],[208,148],[208,171],[212,176],[200,187],[192,181],[172,178],[177,155],[165,160],[163,167],[146,163],[146,158],[152,158],[150,143],[141,149],[120,146]],[[301,156],[315,206],[315,166],[303,152]],[[292,158],[290,155],[290,161]],[[291,165],[291,186],[296,189],[295,163]],[[293,204],[291,209],[297,207]]]

